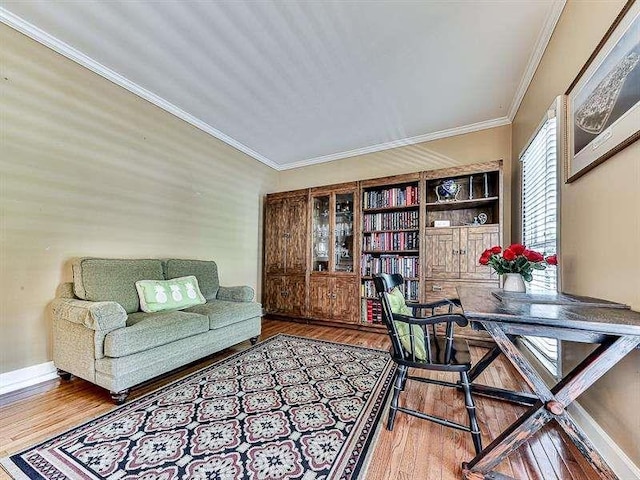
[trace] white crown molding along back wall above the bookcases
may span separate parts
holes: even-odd
[[[309,165],[317,165],[319,163],[332,162],[333,160],[341,160],[343,158],[356,157],[358,155],[365,155],[367,153],[381,152],[384,150],[390,150],[392,148],[406,147],[407,145],[415,145],[417,143],[429,142],[431,140],[438,140],[441,138],[453,137],[455,135],[462,135],[465,133],[478,132],[480,130],[487,130],[489,128],[502,127],[509,125],[511,120],[507,117],[494,118],[493,120],[486,120],[484,122],[471,123],[469,125],[463,125],[462,127],[448,128],[446,130],[440,130],[433,133],[426,133],[424,135],[418,135],[416,137],[401,138],[399,140],[393,140],[391,142],[379,143],[377,145],[371,145],[369,147],[356,148],[353,150],[347,150],[344,152],[332,153],[329,155],[322,155],[320,157],[313,157],[298,162],[287,163],[281,165],[279,170],[290,170],[292,168],[308,167]]]

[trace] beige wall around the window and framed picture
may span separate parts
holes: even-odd
[[[569,87],[624,3],[567,2],[513,122],[513,158],[553,99]],[[560,272],[564,291],[616,300],[640,310],[638,158],[640,143],[635,143],[576,182],[562,186]],[[518,191],[514,190],[514,198],[519,198]],[[514,222],[514,237],[518,230]],[[583,358],[588,348],[565,343],[565,370]],[[579,398],[636,465],[640,465],[639,362],[640,352],[633,352]]]

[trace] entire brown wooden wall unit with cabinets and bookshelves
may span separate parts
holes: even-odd
[[[416,301],[498,286],[478,260],[502,244],[502,192],[496,161],[267,195],[267,313],[383,331],[376,273],[402,274]]]

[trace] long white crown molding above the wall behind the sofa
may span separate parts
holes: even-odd
[[[142,88],[140,85],[132,82],[126,77],[123,77],[119,73],[116,73],[115,71],[111,70],[105,65],[102,65],[101,63],[97,62],[91,57],[85,55],[84,53],[76,50],[72,46],[66,44],[62,40],[54,37],[53,35],[48,34],[44,30],[39,29],[35,25],[32,25],[31,23],[27,22],[26,20],[20,18],[19,16],[11,13],[10,11],[2,7],[0,7],[0,22],[19,31],[20,33],[25,34],[29,38],[35,40],[38,43],[41,43],[45,47],[50,48],[54,52],[57,52],[67,57],[68,59],[78,63],[79,65],[82,65],[83,67],[88,68],[92,72],[97,73],[98,75],[106,78],[110,82],[113,82],[116,85],[119,85],[122,88],[129,90],[131,93],[147,100],[148,102],[165,110],[166,112],[172,115],[175,115],[181,120],[184,120],[185,122],[202,130],[203,132],[206,132],[209,135],[214,136],[218,140],[221,140],[222,142],[226,143],[227,145],[230,145],[236,150],[239,150],[242,153],[249,155],[253,159],[258,160],[259,162],[264,163],[265,165],[271,168],[274,168],[276,170],[279,170],[281,168],[277,163],[268,159],[264,155],[259,154],[255,150],[252,150],[246,145],[238,142],[234,138],[212,127],[208,123],[205,123],[202,120],[194,117],[193,115],[185,112],[181,108],[159,97],[155,93],[152,93],[149,90]]]

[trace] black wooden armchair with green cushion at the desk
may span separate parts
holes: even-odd
[[[373,276],[373,282],[382,303],[382,319],[391,338],[391,358],[398,365],[394,378],[393,398],[389,409],[387,429],[393,430],[396,413],[404,412],[446,427],[471,433],[476,454],[479,453],[482,450],[482,441],[476,418],[476,407],[469,386],[468,372],[471,369],[469,348],[466,342],[453,338],[454,325],[464,327],[468,324],[464,315],[453,313],[453,309],[459,307],[460,302],[455,299],[427,304],[407,303],[407,307],[412,309],[411,315],[393,313],[392,304],[397,303],[397,292],[392,291],[404,284],[402,275],[377,274]],[[443,307],[447,313],[436,313]],[[419,316],[419,313],[425,310],[430,310],[430,316]],[[437,334],[437,325],[444,325],[444,337]],[[454,383],[408,375],[410,368],[458,373],[460,381]],[[407,380],[462,389],[469,424],[462,425],[442,417],[399,406],[398,398],[404,390]]]

